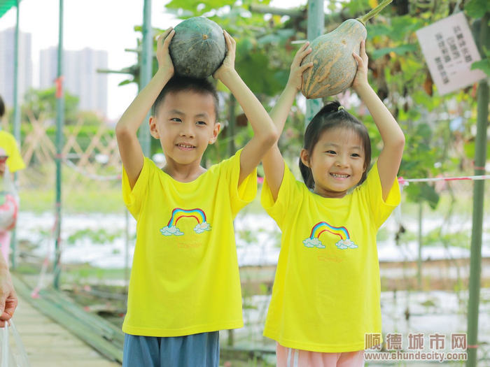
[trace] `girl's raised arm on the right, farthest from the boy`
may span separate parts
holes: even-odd
[[[358,64],[356,78],[353,80],[352,87],[367,106],[383,140],[384,146],[379,154],[377,165],[379,180],[381,180],[381,189],[383,191],[383,200],[386,200],[398,173],[398,168],[400,168],[403,147],[405,146],[405,136],[393,118],[393,115],[384,106],[384,103],[369,85],[369,82],[367,82],[365,41],[360,44],[360,56],[355,53],[352,53],[352,55]]]

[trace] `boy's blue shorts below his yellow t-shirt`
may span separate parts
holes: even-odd
[[[219,331],[174,337],[124,337],[123,367],[218,367],[219,360]]]

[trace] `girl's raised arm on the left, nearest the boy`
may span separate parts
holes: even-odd
[[[288,118],[291,106],[293,106],[296,94],[301,89],[302,74],[305,70],[313,66],[313,63],[311,62],[301,66],[302,59],[311,52],[311,48],[308,48],[308,46],[309,42],[304,43],[300,50],[296,52],[293,63],[291,64],[291,71],[286,88],[284,88],[279,100],[274,104],[274,107],[270,111],[270,117],[276,126],[279,136],[284,128],[284,123]],[[269,189],[275,201],[284,175],[284,160],[279,151],[279,147],[277,146],[277,141],[265,154],[262,159],[262,165],[264,166],[267,185],[269,185]]]

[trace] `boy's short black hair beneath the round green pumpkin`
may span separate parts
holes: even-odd
[[[216,92],[216,87],[208,79],[198,79],[190,78],[187,76],[174,75],[163,87],[162,92],[158,94],[155,103],[153,103],[152,115],[157,114],[158,107],[165,99],[165,96],[169,93],[190,91],[199,94],[211,94],[214,99],[214,113],[216,115],[216,121],[218,121],[218,111],[219,111],[219,101],[218,92]]]

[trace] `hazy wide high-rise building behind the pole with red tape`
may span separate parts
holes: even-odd
[[[39,57],[39,87],[55,85],[57,76],[57,48],[41,50]],[[107,114],[107,74],[97,69],[107,69],[107,52],[84,48],[63,53],[63,85],[70,94],[78,96],[80,110]]]

